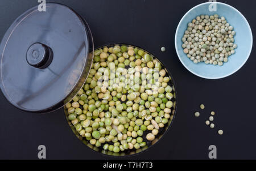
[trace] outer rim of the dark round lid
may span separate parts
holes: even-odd
[[[3,79],[3,66],[2,66],[2,60],[3,60],[3,55],[5,53],[5,48],[7,46],[7,43],[10,39],[11,34],[15,31],[15,28],[18,27],[19,23],[22,22],[24,19],[26,19],[27,15],[32,14],[32,12],[37,11],[38,6],[32,7],[30,9],[28,9],[27,11],[23,12],[23,14],[21,14],[20,16],[18,16],[18,18],[16,18],[14,20],[14,22],[10,25],[9,29],[7,29],[5,35],[3,36],[3,39],[1,40],[1,44],[0,44],[0,59],[1,59],[1,64],[0,64],[0,89],[2,91],[2,94],[5,96],[5,99],[7,101],[9,101],[13,106],[15,106],[15,108],[18,108],[20,110],[23,110],[24,112],[31,112],[31,113],[49,113],[49,112],[53,112],[57,109],[60,109],[61,107],[63,107],[67,102],[68,98],[71,98],[71,96],[74,95],[74,91],[75,91],[75,95],[78,93],[77,86],[79,86],[79,83],[82,82],[82,79],[84,78],[85,75],[89,75],[89,72],[86,72],[86,66],[88,66],[88,63],[90,63],[90,68],[92,66],[92,60],[93,57],[89,57],[89,54],[91,52],[91,49],[93,50],[93,37],[92,37],[92,33],[90,32],[89,29],[89,25],[85,22],[85,19],[82,18],[79,14],[77,14],[76,11],[74,11],[72,8],[65,6],[61,3],[47,3],[47,6],[51,6],[51,5],[60,5],[63,6],[65,8],[68,8],[69,10],[71,10],[74,14],[76,14],[77,18],[80,19],[80,23],[82,24],[82,29],[84,29],[84,32],[86,33],[86,36],[84,35],[84,41],[85,41],[85,45],[88,46],[88,48],[85,48],[85,66],[82,66],[82,72],[79,74],[78,79],[76,81],[76,83],[72,86],[71,91],[69,93],[67,93],[67,95],[61,99],[59,101],[57,101],[55,104],[49,105],[49,107],[47,106],[46,109],[27,109],[27,108],[23,108],[22,106],[16,104],[16,102],[9,96],[10,91],[7,91],[7,89],[5,88],[5,81]],[[90,71],[90,69],[89,69]],[[86,76],[86,78],[87,78]],[[85,79],[86,80],[86,79]],[[85,81],[84,81],[85,82]],[[76,92],[77,91],[77,92]]]

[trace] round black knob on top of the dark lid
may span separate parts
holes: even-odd
[[[35,43],[27,50],[27,63],[39,69],[45,69],[52,62],[52,49],[47,45]]]

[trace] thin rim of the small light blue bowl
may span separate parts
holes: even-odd
[[[247,25],[247,27],[249,28],[249,32],[250,32],[250,37],[251,37],[251,47],[250,47],[250,50],[249,50],[249,53],[247,54],[247,57],[245,58],[245,61],[243,61],[243,63],[241,63],[241,65],[236,69],[234,70],[233,72],[230,72],[229,74],[225,74],[223,76],[217,76],[217,77],[208,77],[208,76],[203,76],[203,75],[200,75],[200,74],[197,74],[196,72],[194,71],[191,71],[187,65],[185,65],[185,63],[181,60],[181,57],[178,53],[178,50],[177,50],[177,33],[179,31],[179,28],[180,28],[180,25],[181,25],[181,22],[183,22],[183,20],[185,19],[185,17],[189,14],[189,12],[191,12],[192,10],[194,10],[195,8],[197,7],[200,7],[200,6],[203,6],[203,5],[207,5],[207,4],[211,4],[211,3],[217,3],[219,5],[224,5],[224,6],[228,6],[229,8],[232,8],[233,10],[235,10],[236,12],[238,12],[238,14],[240,14],[242,16],[242,18],[245,20],[245,23]],[[222,3],[222,2],[205,2],[205,3],[200,3],[199,5],[191,8],[189,11],[187,11],[185,13],[185,15],[181,18],[179,24],[177,25],[177,28],[176,28],[176,33],[175,33],[175,49],[176,49],[176,53],[177,53],[177,56],[179,57],[180,59],[180,62],[182,63],[182,65],[189,71],[189,72],[192,72],[192,74],[196,75],[196,76],[199,76],[201,78],[205,78],[205,79],[221,79],[221,78],[226,78],[230,75],[233,75],[235,72],[237,72],[238,70],[240,70],[243,65],[245,65],[245,63],[247,62],[248,58],[250,57],[250,54],[251,54],[251,50],[253,49],[253,33],[251,31],[251,27],[250,27],[250,24],[248,23],[247,19],[245,18],[245,16],[242,15],[242,13],[240,11],[238,11],[236,8],[234,8],[233,6],[230,6],[226,3]]]

